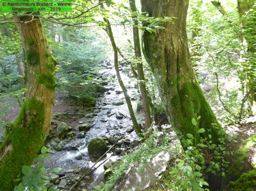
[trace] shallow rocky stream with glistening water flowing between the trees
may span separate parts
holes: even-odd
[[[99,73],[112,77],[116,75],[112,66],[106,68],[108,69],[100,70]],[[121,72],[121,75],[131,97],[134,112],[136,112],[136,81],[133,80],[131,82],[124,72]],[[51,157],[46,161],[46,166],[51,169],[56,167],[62,168],[57,173],[59,177],[56,177],[54,182],[56,186],[58,185],[59,189],[65,190],[70,188],[87,169],[95,164],[97,159],[92,158],[87,151],[87,145],[92,138],[105,139],[108,147],[114,143],[115,139],[113,138],[117,138],[117,147],[97,163],[95,171],[85,177],[80,183],[78,190],[83,190],[83,188],[92,189],[98,185],[104,180],[103,165],[105,162],[120,159],[129,147],[136,146],[139,143],[136,131],[133,129],[123,91],[117,79],[114,81],[110,80],[105,88],[107,91],[97,99],[95,109],[92,112],[93,117],[75,118],[70,123],[72,126],[79,126],[84,123],[91,126],[90,130],[85,133],[84,138],[78,138],[79,131],[76,131],[75,138],[68,142],[65,140],[61,142],[63,148],[57,149],[57,151],[50,151]],[[136,117],[138,123],[142,124],[143,114],[136,112]]]

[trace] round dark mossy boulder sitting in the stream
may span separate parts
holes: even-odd
[[[88,152],[93,157],[100,157],[107,151],[107,145],[104,139],[93,138],[88,145]]]

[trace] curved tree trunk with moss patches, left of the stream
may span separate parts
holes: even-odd
[[[22,166],[30,165],[44,144],[51,124],[55,65],[37,17],[15,17],[28,72],[25,102],[12,131],[0,146],[0,190],[13,190]]]

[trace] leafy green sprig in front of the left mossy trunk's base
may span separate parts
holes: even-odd
[[[54,186],[51,186],[49,189],[46,185],[51,180],[51,175],[60,171],[61,168],[54,168],[51,172],[49,169],[45,168],[44,159],[49,159],[50,155],[46,154],[50,149],[43,146],[41,148],[41,154],[39,154],[36,158],[36,164],[33,166],[23,166],[22,167],[22,179],[21,175],[18,175],[18,178],[15,181],[19,182],[18,186],[15,186],[15,191],[23,191],[23,190],[56,190]]]

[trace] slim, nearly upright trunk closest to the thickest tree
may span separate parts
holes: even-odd
[[[130,0],[130,7],[133,12],[137,11],[135,0]],[[136,18],[137,18],[136,16],[133,17],[134,25],[138,25],[138,21]],[[140,49],[140,42],[139,42],[139,29],[135,26],[133,26],[133,41],[134,41],[134,52],[137,60],[139,88],[140,88],[140,93],[142,94],[143,111],[145,115],[145,126],[146,126],[146,129],[149,129],[152,123],[150,102],[149,102],[149,97],[147,95],[146,81],[145,81],[145,76],[143,71],[142,51]]]

